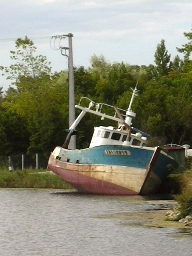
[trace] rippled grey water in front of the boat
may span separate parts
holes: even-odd
[[[178,229],[110,218],[162,207],[152,199],[50,189],[0,189],[0,198],[1,256],[192,255],[192,236]]]

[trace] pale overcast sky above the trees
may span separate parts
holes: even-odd
[[[93,54],[111,63],[149,65],[162,38],[172,59],[187,42],[183,32],[192,27],[192,0],[0,0],[0,17],[0,66],[12,64],[15,40],[27,35],[52,71],[67,69],[67,58],[51,49],[50,39],[69,32],[76,67],[89,67]],[[0,87],[9,84],[0,76]]]

